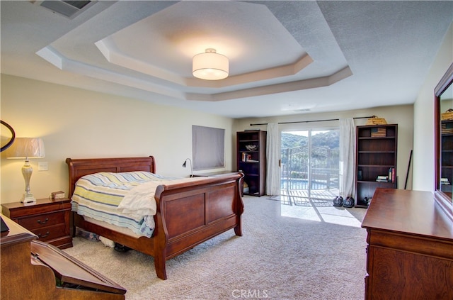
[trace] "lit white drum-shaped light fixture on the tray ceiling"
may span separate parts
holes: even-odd
[[[205,80],[219,80],[228,77],[229,60],[215,49],[207,48],[205,53],[193,57],[193,76]]]

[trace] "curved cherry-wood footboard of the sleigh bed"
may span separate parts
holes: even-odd
[[[242,235],[242,178],[237,173],[157,187],[154,265],[159,278],[166,279],[165,262],[171,257],[231,228]]]

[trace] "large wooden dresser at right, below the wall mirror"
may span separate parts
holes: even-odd
[[[453,299],[453,222],[432,193],[378,188],[362,227],[365,299]]]

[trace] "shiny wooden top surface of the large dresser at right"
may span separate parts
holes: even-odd
[[[453,240],[453,222],[429,191],[376,189],[362,227]]]

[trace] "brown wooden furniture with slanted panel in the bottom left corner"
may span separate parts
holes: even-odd
[[[1,233],[0,299],[124,300],[126,289],[6,216]]]

